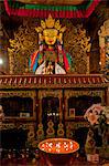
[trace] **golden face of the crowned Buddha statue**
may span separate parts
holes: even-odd
[[[56,29],[45,29],[43,37],[47,45],[54,45],[57,39],[58,31]]]

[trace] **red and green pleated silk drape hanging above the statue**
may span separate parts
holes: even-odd
[[[88,18],[101,0],[88,0],[79,6],[28,4],[15,0],[4,0],[9,15],[46,18]]]

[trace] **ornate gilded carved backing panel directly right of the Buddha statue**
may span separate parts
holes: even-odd
[[[90,52],[90,38],[87,37],[81,24],[74,27],[72,22],[67,20],[65,22],[67,29],[64,35],[64,45],[75,60],[75,73],[89,73],[87,53]]]

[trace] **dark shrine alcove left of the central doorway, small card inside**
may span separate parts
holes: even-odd
[[[31,117],[33,116],[33,100],[31,97],[10,96],[2,97],[0,104],[4,115],[9,117]]]

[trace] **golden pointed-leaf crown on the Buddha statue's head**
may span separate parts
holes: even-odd
[[[61,27],[59,20],[55,21],[55,19],[53,19],[50,14],[45,21],[41,20],[41,27],[35,28],[35,30],[37,33],[41,33],[45,29],[56,29],[63,33],[66,30],[66,27]]]

